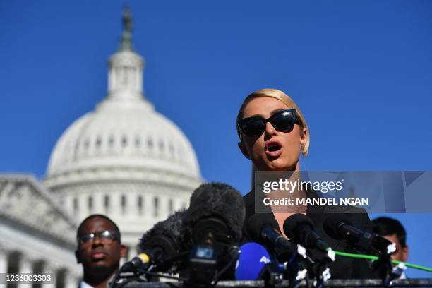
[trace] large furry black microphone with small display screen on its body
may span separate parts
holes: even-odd
[[[193,191],[182,224],[185,245],[192,247],[188,284],[234,278],[244,217],[243,198],[232,186],[213,182]]]

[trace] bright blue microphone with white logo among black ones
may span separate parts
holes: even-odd
[[[267,250],[260,244],[248,242],[240,246],[236,265],[236,280],[259,280],[265,265],[270,263]]]

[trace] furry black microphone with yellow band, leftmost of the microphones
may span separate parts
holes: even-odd
[[[174,212],[166,220],[157,222],[152,229],[145,232],[138,243],[140,255],[126,262],[120,272],[131,272],[150,264],[155,264],[155,271],[175,271],[177,266],[169,260],[181,251],[184,241],[181,236],[181,222],[185,214],[186,210]]]

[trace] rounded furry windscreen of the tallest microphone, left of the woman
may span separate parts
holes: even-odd
[[[239,241],[245,214],[243,197],[235,188],[219,182],[201,184],[192,193],[184,218],[184,235],[191,237],[192,229],[199,220],[217,217],[227,224],[233,241]]]

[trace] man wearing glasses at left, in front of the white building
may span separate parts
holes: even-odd
[[[81,222],[77,231],[76,260],[83,265],[80,288],[105,288],[126,256],[119,227],[109,217],[93,214]]]

